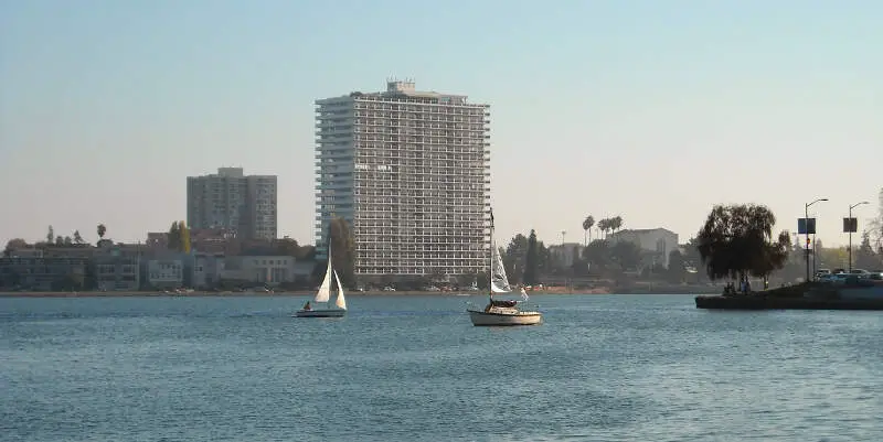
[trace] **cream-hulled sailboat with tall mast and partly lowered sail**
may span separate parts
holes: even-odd
[[[540,312],[522,312],[518,304],[528,300],[528,293],[521,289],[519,300],[494,300],[493,294],[511,293],[509,278],[506,276],[502,258],[493,239],[493,212],[490,213],[490,289],[488,305],[485,310],[467,309],[472,325],[535,325],[543,321]]]

